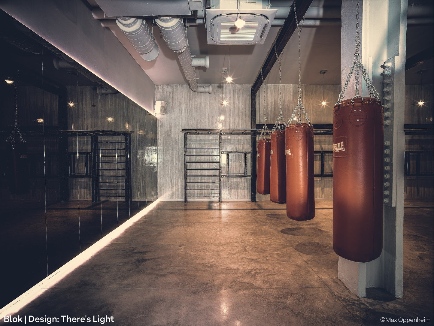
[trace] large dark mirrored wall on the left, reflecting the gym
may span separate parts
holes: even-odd
[[[5,306],[157,199],[157,124],[25,26],[1,18]]]

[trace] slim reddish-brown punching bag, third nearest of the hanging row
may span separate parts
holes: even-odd
[[[278,204],[286,203],[285,130],[271,133],[270,200]]]

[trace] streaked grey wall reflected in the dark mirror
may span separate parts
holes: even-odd
[[[89,86],[67,90],[69,99],[75,103],[68,108],[70,130],[134,131],[131,135],[132,199],[157,199],[157,119],[120,93],[100,96]],[[82,138],[79,150],[90,150],[90,139]],[[75,150],[76,146],[70,143],[69,151]],[[69,183],[70,199],[91,198],[90,181],[70,178]]]

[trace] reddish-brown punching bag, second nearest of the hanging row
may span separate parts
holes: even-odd
[[[286,215],[297,221],[315,216],[313,127],[289,124],[285,129]]]

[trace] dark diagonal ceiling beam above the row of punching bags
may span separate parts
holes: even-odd
[[[298,20],[301,20],[301,18],[304,16],[311,3],[312,0],[296,1]],[[259,70],[255,82],[252,85],[252,95],[256,95],[256,92],[259,90],[259,88],[262,85],[261,70],[262,70],[263,78],[265,79],[270,73],[271,68],[273,68],[273,65],[277,61],[276,53],[274,52],[274,46],[276,46],[276,52],[277,55],[279,56],[280,53],[282,53],[283,49],[285,48],[286,43],[288,43],[289,39],[293,35],[296,28],[297,28],[297,22],[294,15],[294,6],[291,6],[291,10],[289,10],[288,17],[286,17],[285,23],[280,29],[279,35],[277,35],[276,40],[274,41],[274,44],[271,47],[270,52],[268,53],[268,56],[262,65],[262,68]]]

